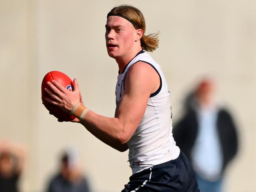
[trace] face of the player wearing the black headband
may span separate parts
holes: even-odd
[[[122,17],[110,16],[106,24],[106,45],[108,55],[121,58],[129,54],[135,43],[136,30],[129,21]]]

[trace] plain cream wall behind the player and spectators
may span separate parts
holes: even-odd
[[[114,116],[118,67],[105,48],[105,22],[120,4],[138,7],[146,34],[161,32],[151,55],[163,68],[173,120],[185,94],[204,75],[239,125],[239,156],[225,192],[256,192],[256,1],[0,0],[0,138],[28,148],[24,192],[43,192],[62,149],[77,146],[95,192],[118,192],[131,170],[127,152],[103,144],[75,123],[58,123],[41,104],[41,80],[53,70],[77,78],[88,108]]]

